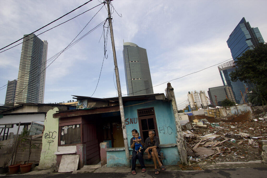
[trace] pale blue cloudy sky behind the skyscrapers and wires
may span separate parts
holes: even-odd
[[[0,48],[17,41],[24,34],[45,26],[85,2],[87,0],[0,0]],[[40,34],[100,3],[100,0],[93,0],[35,34]],[[114,0],[112,5],[119,14],[112,8],[116,56],[123,94],[127,94],[122,54],[123,40],[147,50],[153,86],[166,82],[154,87],[154,93],[164,93],[167,81],[215,65],[170,81],[178,109],[183,109],[188,104],[186,100],[189,91],[205,90],[208,96],[209,88],[223,85],[216,64],[232,58],[226,41],[242,17],[245,17],[251,27],[258,27],[263,39],[267,41],[267,1],[263,0]],[[48,59],[66,48],[102,6],[97,6],[39,35],[41,40],[48,41]],[[78,38],[104,21],[107,16],[107,9],[103,7]],[[73,100],[71,95],[96,98],[117,96],[110,37],[106,46],[107,59],[103,62],[103,29],[106,32],[107,29],[101,25],[85,36],[46,69],[44,103],[67,102]],[[22,44],[0,53],[0,87],[6,85],[8,80],[17,79],[21,48]],[[103,68],[95,91],[102,62]],[[4,104],[6,88],[1,89],[0,104]]]

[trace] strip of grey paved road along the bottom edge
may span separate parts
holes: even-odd
[[[245,178],[245,177],[254,177],[254,178],[266,178],[267,177],[267,168],[238,168],[238,169],[211,169],[205,171],[161,171],[159,175],[155,175],[153,171],[147,171],[146,173],[138,172],[135,176],[131,173],[51,173],[46,175],[14,175],[14,176],[1,176],[1,177],[10,177],[10,178],[21,178],[21,177],[94,177],[94,178],[107,178],[107,177],[197,177],[197,178]]]

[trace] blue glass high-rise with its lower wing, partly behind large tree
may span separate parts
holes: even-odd
[[[228,85],[233,90],[236,103],[240,103],[242,95],[241,92],[245,92],[245,88],[249,88],[248,84],[241,81],[232,82],[229,74],[235,70],[234,61],[238,57],[249,49],[253,49],[260,42],[264,42],[261,33],[258,29],[250,27],[249,22],[246,22],[243,17],[238,25],[235,27],[234,31],[229,35],[227,39],[227,45],[230,48],[233,61],[226,62],[218,66],[223,85]],[[244,86],[245,84],[245,86]],[[240,92],[241,91],[241,92]]]

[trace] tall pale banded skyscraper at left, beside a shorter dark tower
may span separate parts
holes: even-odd
[[[35,34],[24,37],[15,102],[44,103],[48,43]]]

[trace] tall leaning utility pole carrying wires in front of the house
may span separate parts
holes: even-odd
[[[114,43],[114,36],[113,36],[112,18],[111,18],[110,9],[109,9],[109,1],[110,0],[107,0],[110,38],[111,38],[114,65],[115,65],[115,74],[116,74],[117,90],[118,90],[119,105],[120,105],[120,117],[121,117],[122,131],[123,131],[125,155],[126,155],[127,165],[129,166],[130,165],[129,164],[129,159],[128,159],[128,157],[129,157],[129,146],[128,146],[126,125],[125,125],[125,118],[124,118],[124,108],[123,108],[123,102],[122,102],[122,96],[121,96],[121,87],[120,87],[120,76],[119,76],[119,69],[118,69],[118,65],[117,65],[117,57],[116,57],[116,50],[115,50],[115,43]]]

